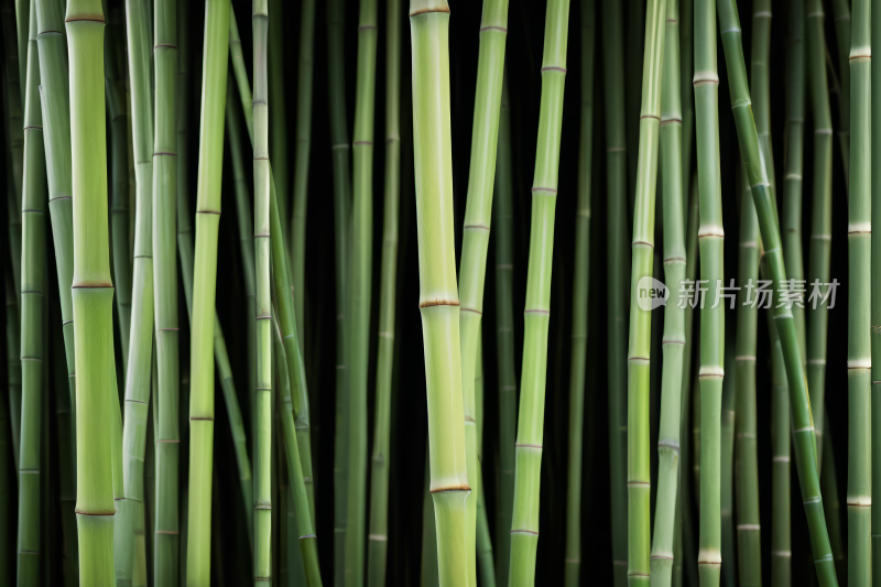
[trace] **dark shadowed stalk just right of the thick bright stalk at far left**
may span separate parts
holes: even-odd
[[[40,0],[40,4],[52,4],[50,0]],[[51,9],[46,9],[51,10]],[[53,15],[54,17],[54,15]],[[37,20],[42,21],[40,12]],[[58,14],[57,21],[61,21]],[[53,22],[55,19],[53,18]],[[122,367],[128,368],[129,361],[129,338],[131,336],[131,256],[129,254],[129,170],[128,170],[128,113],[124,102],[124,80],[120,74],[119,58],[117,53],[120,40],[120,26],[111,24],[108,29],[108,42],[104,45],[105,61],[105,99],[107,100],[107,111],[110,117],[110,238],[112,239],[113,254],[113,279],[117,284],[117,320],[119,323],[119,341],[122,351]],[[47,26],[41,30],[53,31]],[[57,30],[57,29],[55,29]],[[54,33],[50,33],[55,37]],[[43,34],[39,37],[42,40]],[[58,37],[64,41],[64,36]],[[58,41],[55,41],[58,43]],[[48,43],[46,43],[48,44]],[[48,47],[50,51],[61,51],[63,46]],[[66,64],[63,64],[66,67]],[[41,67],[43,65],[41,64]],[[66,76],[65,76],[66,78]],[[45,83],[43,84],[45,86]],[[67,86],[64,87],[65,99]],[[67,115],[69,117],[69,115]],[[67,120],[69,127],[69,119]],[[69,131],[68,131],[69,132]],[[67,155],[69,159],[69,155]],[[57,254],[57,249],[56,249]]]

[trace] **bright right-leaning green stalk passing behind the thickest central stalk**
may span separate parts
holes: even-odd
[[[471,159],[468,171],[468,197],[463,227],[459,267],[459,347],[461,351],[463,404],[465,406],[465,452],[471,498],[466,501],[466,545],[468,585],[477,586],[477,500],[480,491],[477,458],[477,415],[475,368],[480,319],[483,313],[483,285],[487,269],[492,183],[499,137],[499,116],[504,73],[504,46],[508,37],[508,2],[483,2],[480,20],[480,52],[477,65]]]

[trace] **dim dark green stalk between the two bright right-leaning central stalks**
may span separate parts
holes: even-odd
[[[508,585],[511,555],[511,514],[514,509],[514,431],[516,430],[516,374],[514,372],[514,221],[511,164],[511,109],[508,80],[502,77],[499,146],[496,163],[496,352],[499,378],[499,499],[496,510],[496,580]]]

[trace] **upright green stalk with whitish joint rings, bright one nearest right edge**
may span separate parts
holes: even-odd
[[[848,585],[872,581],[872,4],[853,2],[850,36],[850,197],[847,300],[847,546]],[[875,21],[881,24],[881,20]],[[816,130],[815,130],[816,133]],[[830,138],[831,139],[831,138]],[[831,159],[831,157],[830,157]],[[829,165],[831,166],[831,165]],[[828,210],[828,208],[827,208]],[[827,214],[827,222],[831,214]],[[823,278],[820,276],[820,280]],[[825,280],[828,282],[828,279]],[[825,283],[824,282],[824,283]],[[824,311],[826,307],[824,306]],[[878,403],[878,402],[874,402]],[[816,411],[816,410],[815,410]],[[881,413],[881,409],[875,407]],[[878,436],[878,434],[875,434]],[[879,476],[881,477],[881,476]],[[877,541],[877,539],[875,539]]]

